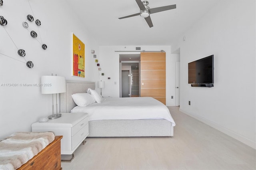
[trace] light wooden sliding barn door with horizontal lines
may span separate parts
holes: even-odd
[[[166,105],[164,52],[140,53],[140,96],[153,97]]]

